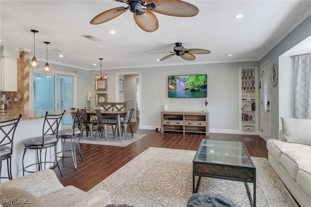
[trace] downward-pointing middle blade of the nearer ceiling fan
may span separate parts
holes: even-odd
[[[155,32],[159,27],[159,22],[155,14],[145,8],[142,8],[141,10],[145,11],[142,15],[136,15],[133,13],[136,24],[145,32]]]

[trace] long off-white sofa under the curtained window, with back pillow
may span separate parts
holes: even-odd
[[[311,119],[281,118],[279,140],[267,141],[268,161],[301,207],[311,207]]]

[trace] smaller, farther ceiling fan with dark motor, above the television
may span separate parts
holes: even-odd
[[[175,43],[175,45],[176,46],[174,47],[174,51],[170,52],[174,54],[167,55],[161,58],[160,61],[164,61],[172,57],[173,55],[178,55],[187,61],[193,61],[195,59],[195,56],[193,54],[209,54],[210,53],[210,51],[207,49],[186,49],[183,46],[181,46],[182,43],[180,42]],[[155,52],[155,53],[162,53],[162,52]],[[150,54],[154,54],[154,53],[150,53]]]

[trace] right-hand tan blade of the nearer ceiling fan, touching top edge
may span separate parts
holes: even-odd
[[[199,13],[198,7],[182,0],[153,0],[153,1],[155,2],[156,7],[151,11],[162,15],[190,17],[196,16]],[[146,2],[148,4],[151,3],[152,0],[147,0]]]

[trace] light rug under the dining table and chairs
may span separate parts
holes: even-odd
[[[95,136],[95,133],[94,133]],[[105,136],[105,135],[104,135]],[[115,139],[113,139],[113,134],[112,131],[111,133],[108,131],[108,138],[107,141],[104,138],[100,138],[99,135],[97,134],[96,139],[91,140],[90,136],[88,135],[88,137],[86,137],[86,133],[83,134],[83,137],[80,140],[80,143],[87,143],[87,144],[102,144],[102,145],[113,145],[113,146],[127,146],[130,143],[134,143],[135,141],[139,140],[140,138],[143,138],[144,136],[146,136],[146,134],[133,134],[133,137],[131,135],[131,133],[127,134],[127,139],[125,140],[124,134],[121,137],[121,142],[120,142],[120,138],[116,137]]]

